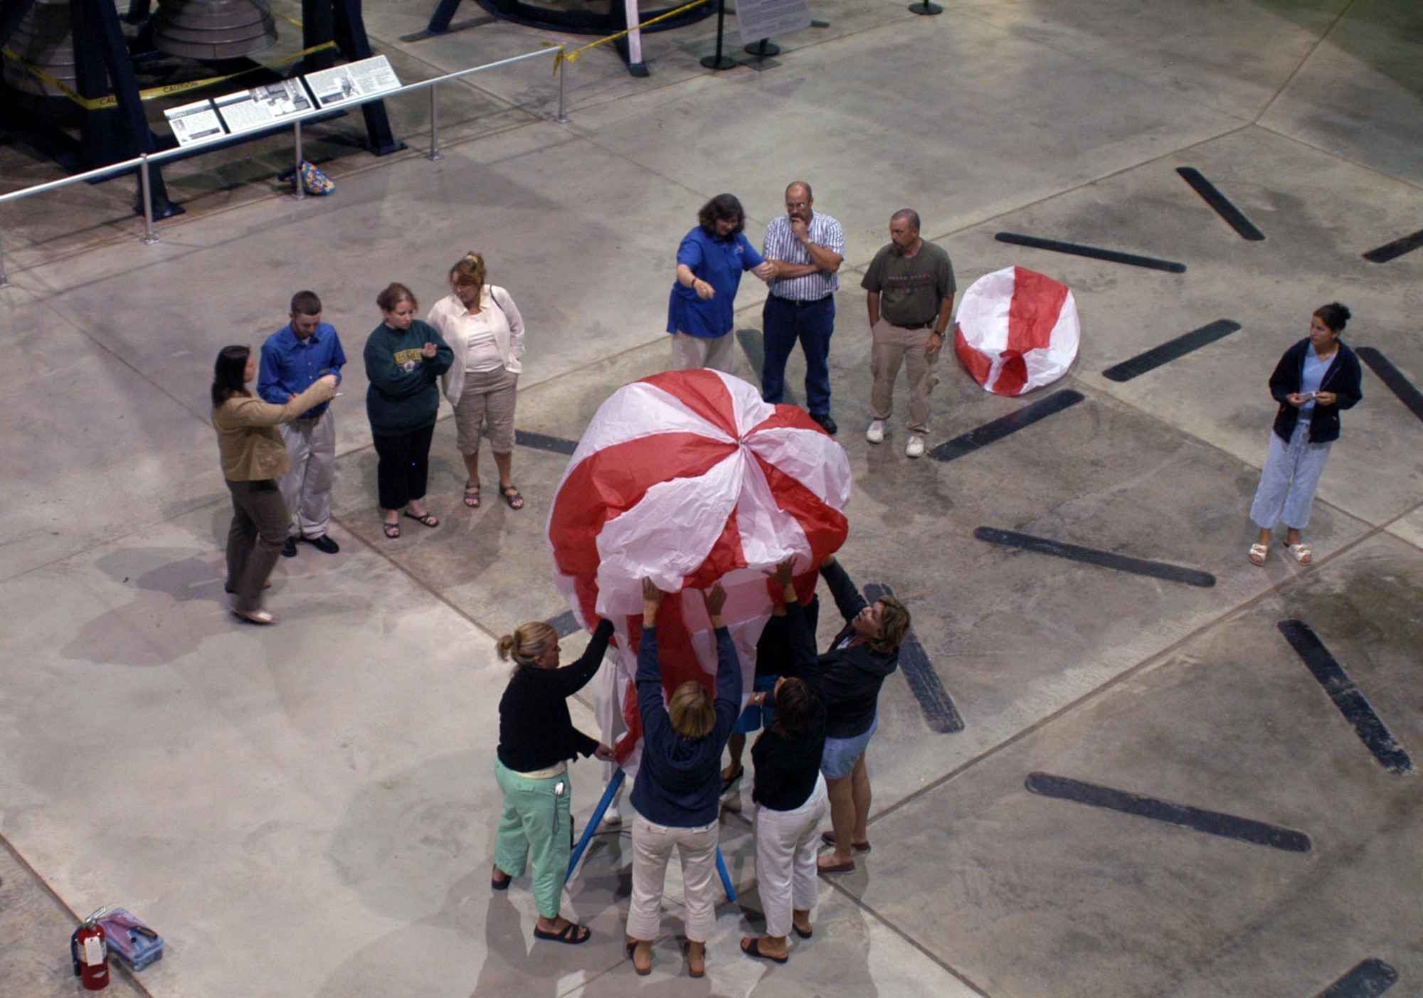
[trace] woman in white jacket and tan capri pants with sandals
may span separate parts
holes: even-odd
[[[435,301],[425,321],[454,350],[454,364],[443,377],[454,407],[460,454],[468,478],[464,505],[480,505],[480,426],[490,428],[490,449],[499,469],[499,495],[509,509],[524,509],[514,488],[514,397],[524,355],[524,318],[502,287],[487,284],[484,257],[475,252],[450,269],[451,294]]]

